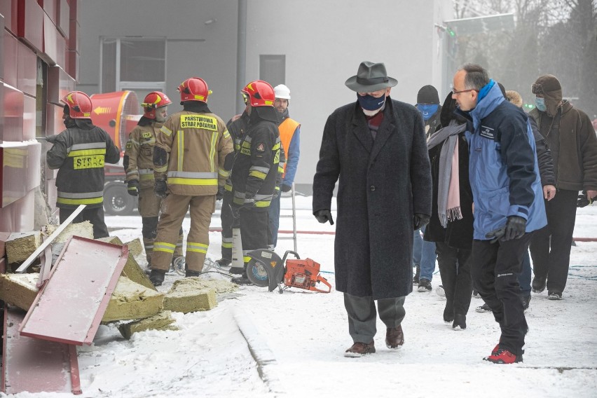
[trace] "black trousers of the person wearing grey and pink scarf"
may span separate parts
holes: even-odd
[[[446,311],[444,314],[467,315],[471,304],[471,250],[450,247],[436,242],[435,252],[439,264],[441,283],[446,291]]]

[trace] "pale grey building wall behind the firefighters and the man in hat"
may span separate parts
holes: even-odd
[[[167,39],[166,93],[179,109],[176,88],[191,76],[214,91],[210,108],[235,114],[238,1],[80,0],[81,71],[77,87],[99,92],[100,36]],[[442,86],[442,41],[434,26],[448,20],[445,0],[247,1],[245,80],[260,77],[260,55],[286,56],[290,114],[300,121],[297,184],[311,184],[327,116],[355,101],[344,81],[364,60],[385,62],[397,78],[392,97],[410,104],[426,84]],[[205,21],[214,22],[206,25]],[[198,39],[203,41],[197,41]],[[444,78],[445,80],[445,78]],[[446,92],[439,92],[441,98]]]

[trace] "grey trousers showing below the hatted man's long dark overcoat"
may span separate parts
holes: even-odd
[[[406,315],[404,299],[406,296],[380,299],[377,301],[378,310],[376,311],[373,297],[351,296],[345,293],[344,307],[348,313],[348,333],[352,337],[352,341],[366,344],[373,341],[373,336],[377,332],[377,312],[379,312],[379,319],[385,324],[385,327],[398,327]]]

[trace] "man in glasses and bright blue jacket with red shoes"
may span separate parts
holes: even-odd
[[[479,65],[465,64],[456,72],[452,97],[469,121],[474,287],[502,331],[484,359],[522,362],[528,326],[517,275],[531,233],[547,224],[533,131],[524,111],[506,101]]]

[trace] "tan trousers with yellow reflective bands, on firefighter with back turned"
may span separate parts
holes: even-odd
[[[151,268],[168,270],[182,220],[190,208],[191,229],[186,236],[186,268],[200,272],[203,269],[207,247],[210,244],[210,222],[216,210],[215,195],[170,195],[162,203],[158,235],[153,240]]]

